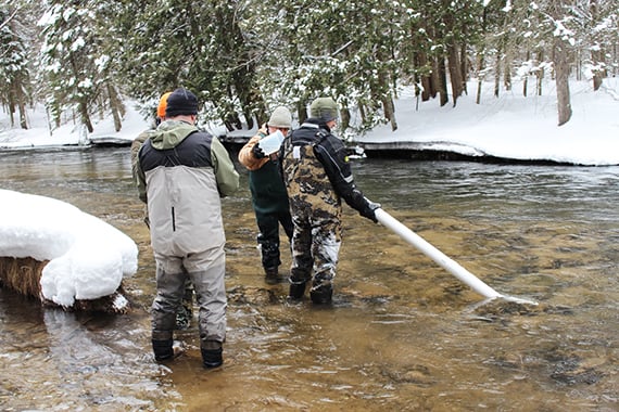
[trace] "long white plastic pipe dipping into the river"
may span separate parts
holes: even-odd
[[[429,244],[424,237],[419,236],[417,233],[413,232],[410,229],[402,224],[397,219],[389,215],[387,211],[378,208],[375,210],[376,218],[387,228],[394,231],[397,235],[404,239],[406,242],[410,243],[413,246],[417,247],[424,255],[428,256],[441,267],[443,267],[447,272],[452,273],[454,276],[469,285],[478,294],[485,296],[487,298],[505,298],[502,294],[494,291],[492,287],[480,281],[475,274],[459,266],[456,261],[447,257],[441,250]],[[520,300],[515,298],[509,298],[508,300]],[[522,300],[525,301],[525,300]]]

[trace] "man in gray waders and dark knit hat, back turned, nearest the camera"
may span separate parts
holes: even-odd
[[[187,279],[195,291],[200,349],[205,368],[219,366],[226,338],[226,243],[220,196],[239,188],[239,175],[224,145],[195,126],[198,99],[177,89],[167,98],[165,121],[138,153],[140,198],[148,203],[156,261],[152,306],[155,360],[176,355],[176,309]]]

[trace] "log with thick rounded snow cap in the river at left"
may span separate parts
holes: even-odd
[[[65,310],[123,313],[136,243],[67,203],[0,190],[0,281]]]

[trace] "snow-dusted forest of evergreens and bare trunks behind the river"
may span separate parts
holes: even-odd
[[[455,106],[465,93],[479,103],[482,82],[498,96],[517,77],[519,92],[541,95],[551,77],[560,126],[570,78],[597,90],[618,75],[618,13],[617,0],[0,0],[0,102],[23,129],[42,102],[50,129],[92,132],[112,115],[119,131],[126,101],[152,116],[161,94],[185,87],[201,121],[233,131],[281,104],[302,121],[330,95],[341,130],[359,134],[397,129],[403,86]]]

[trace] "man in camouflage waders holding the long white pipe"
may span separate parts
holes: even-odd
[[[294,223],[289,295],[302,298],[312,281],[312,301],[329,304],[341,245],[341,198],[375,222],[380,205],[356,188],[346,149],[331,133],[338,119],[336,101],[316,99],[310,114],[285,143],[283,177]]]

